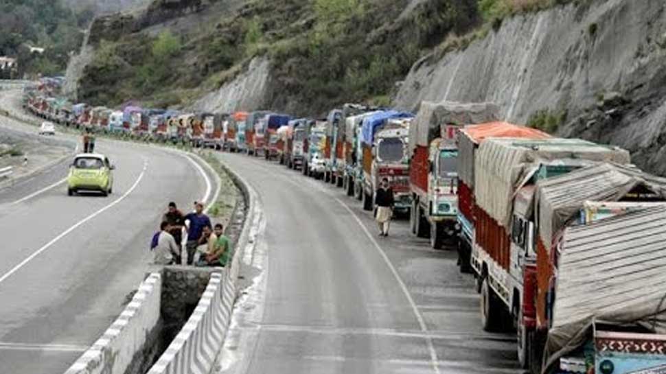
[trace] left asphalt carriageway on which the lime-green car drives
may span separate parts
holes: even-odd
[[[0,191],[0,373],[63,373],[143,279],[167,202],[190,209],[216,189],[174,152],[104,139],[96,151],[117,167],[111,196],[67,196],[66,165]]]

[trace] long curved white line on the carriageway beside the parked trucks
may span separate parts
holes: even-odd
[[[260,163],[256,163],[256,165],[260,165]],[[262,165],[262,168],[264,170],[268,170],[268,167],[265,165]],[[284,174],[279,174],[280,176],[284,176]],[[287,180],[289,183],[292,183],[294,185],[297,185],[298,187],[302,187],[299,185],[297,182],[292,180],[291,178],[288,178],[286,176],[285,180]],[[347,211],[349,211],[350,214],[352,214],[352,217],[354,217],[354,220],[358,223],[358,226],[363,230],[367,238],[370,240],[370,242],[373,244],[374,248],[377,250],[377,252],[380,254],[382,259],[384,259],[384,263],[389,267],[389,270],[391,270],[391,273],[393,273],[393,277],[395,277],[395,280],[398,281],[398,284],[400,285],[400,288],[402,289],[402,292],[404,293],[404,296],[406,297],[407,301],[409,302],[409,305],[411,305],[411,309],[414,312],[414,315],[416,316],[416,320],[419,324],[419,327],[422,332],[427,333],[428,332],[428,327],[426,325],[425,320],[423,319],[423,316],[419,310],[419,308],[416,306],[416,303],[414,302],[414,299],[412,298],[411,294],[409,293],[409,289],[407,288],[407,285],[402,281],[402,277],[400,277],[400,273],[398,273],[398,270],[395,269],[395,266],[391,263],[391,260],[389,259],[389,256],[382,250],[382,247],[379,245],[375,237],[368,231],[367,227],[365,224],[363,224],[363,221],[358,218],[358,215],[354,213],[354,211],[343,202],[343,200],[340,200],[337,196],[334,196],[333,194],[330,193],[328,189],[325,189],[323,185],[320,185],[319,183],[314,183],[314,180],[310,180],[310,185],[314,186],[315,188],[319,189],[319,191],[324,191],[328,196],[333,198],[340,204],[343,208],[345,208]],[[426,343],[428,344],[428,351],[430,351],[430,362],[433,366],[433,371],[435,371],[435,374],[440,374],[439,372],[439,366],[437,365],[437,362],[439,358],[437,358],[437,351],[435,351],[435,344],[433,344],[433,339],[429,338],[428,336],[424,337],[426,340]]]

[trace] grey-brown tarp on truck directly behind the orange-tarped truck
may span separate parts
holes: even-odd
[[[492,103],[422,102],[409,126],[409,154],[417,145],[430,146],[439,137],[439,126],[485,124],[499,119],[499,108]]]

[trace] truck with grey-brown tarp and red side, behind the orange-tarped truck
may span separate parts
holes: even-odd
[[[457,131],[494,121],[492,103],[422,102],[409,134],[410,227],[441,249],[457,242]]]

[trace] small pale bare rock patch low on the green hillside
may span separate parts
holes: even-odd
[[[246,71],[194,103],[194,110],[231,113],[244,108],[262,108],[268,104],[270,62],[254,58]]]

